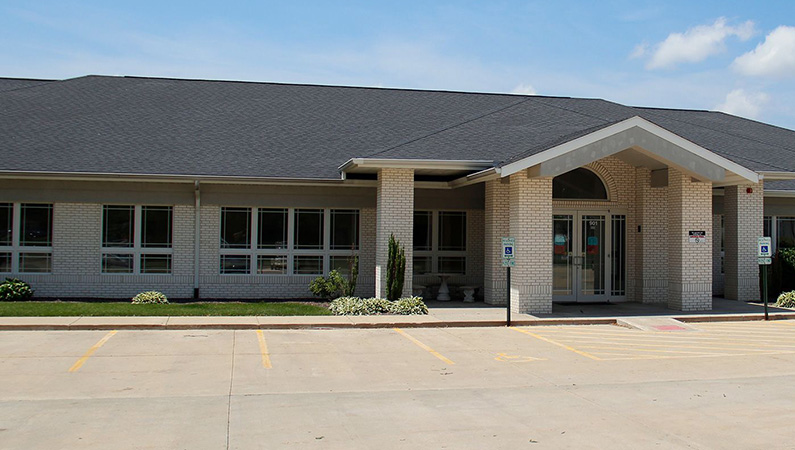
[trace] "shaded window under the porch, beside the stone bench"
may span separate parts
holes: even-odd
[[[414,212],[414,274],[466,274],[467,216],[463,211]]]

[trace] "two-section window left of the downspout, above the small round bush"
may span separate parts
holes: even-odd
[[[104,205],[101,271],[105,274],[170,274],[171,206]]]

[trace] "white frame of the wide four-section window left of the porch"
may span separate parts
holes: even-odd
[[[250,210],[250,223],[249,229],[251,230],[251,239],[247,248],[222,248],[220,239],[220,226],[218,231],[218,274],[224,277],[235,276],[256,276],[256,277],[284,277],[284,276],[303,276],[303,277],[317,277],[320,275],[328,274],[331,270],[331,257],[333,256],[347,256],[359,255],[362,248],[362,213],[360,208],[324,208],[324,207],[284,207],[284,206],[223,206],[221,207],[221,215],[219,216],[219,225],[223,221],[224,208],[247,208]],[[287,244],[283,248],[258,248],[259,247],[259,216],[260,210],[270,209],[283,209],[287,210]],[[320,210],[323,212],[323,247],[320,249],[295,248],[295,223],[296,211],[300,210]],[[357,212],[357,244],[356,250],[352,249],[331,249],[331,217],[332,211],[356,211]],[[249,261],[249,270],[247,273],[223,273],[221,261],[223,255],[227,256],[245,256]],[[284,273],[258,273],[260,256],[283,256],[286,258],[285,272]],[[319,256],[322,258],[322,273],[296,273],[295,259],[301,256]]]

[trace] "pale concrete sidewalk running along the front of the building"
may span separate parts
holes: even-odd
[[[503,307],[483,303],[428,302],[426,316],[142,316],[142,317],[0,317],[0,330],[115,330],[115,329],[306,329],[306,328],[439,328],[505,326]],[[511,324],[615,325],[631,317],[672,318],[681,322],[762,320],[756,303],[713,300],[713,310],[682,312],[658,304],[554,305],[552,314],[511,314]],[[795,311],[770,308],[771,320],[795,319]]]

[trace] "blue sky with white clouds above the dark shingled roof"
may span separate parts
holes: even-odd
[[[0,0],[0,76],[604,98],[795,129],[795,2]]]

